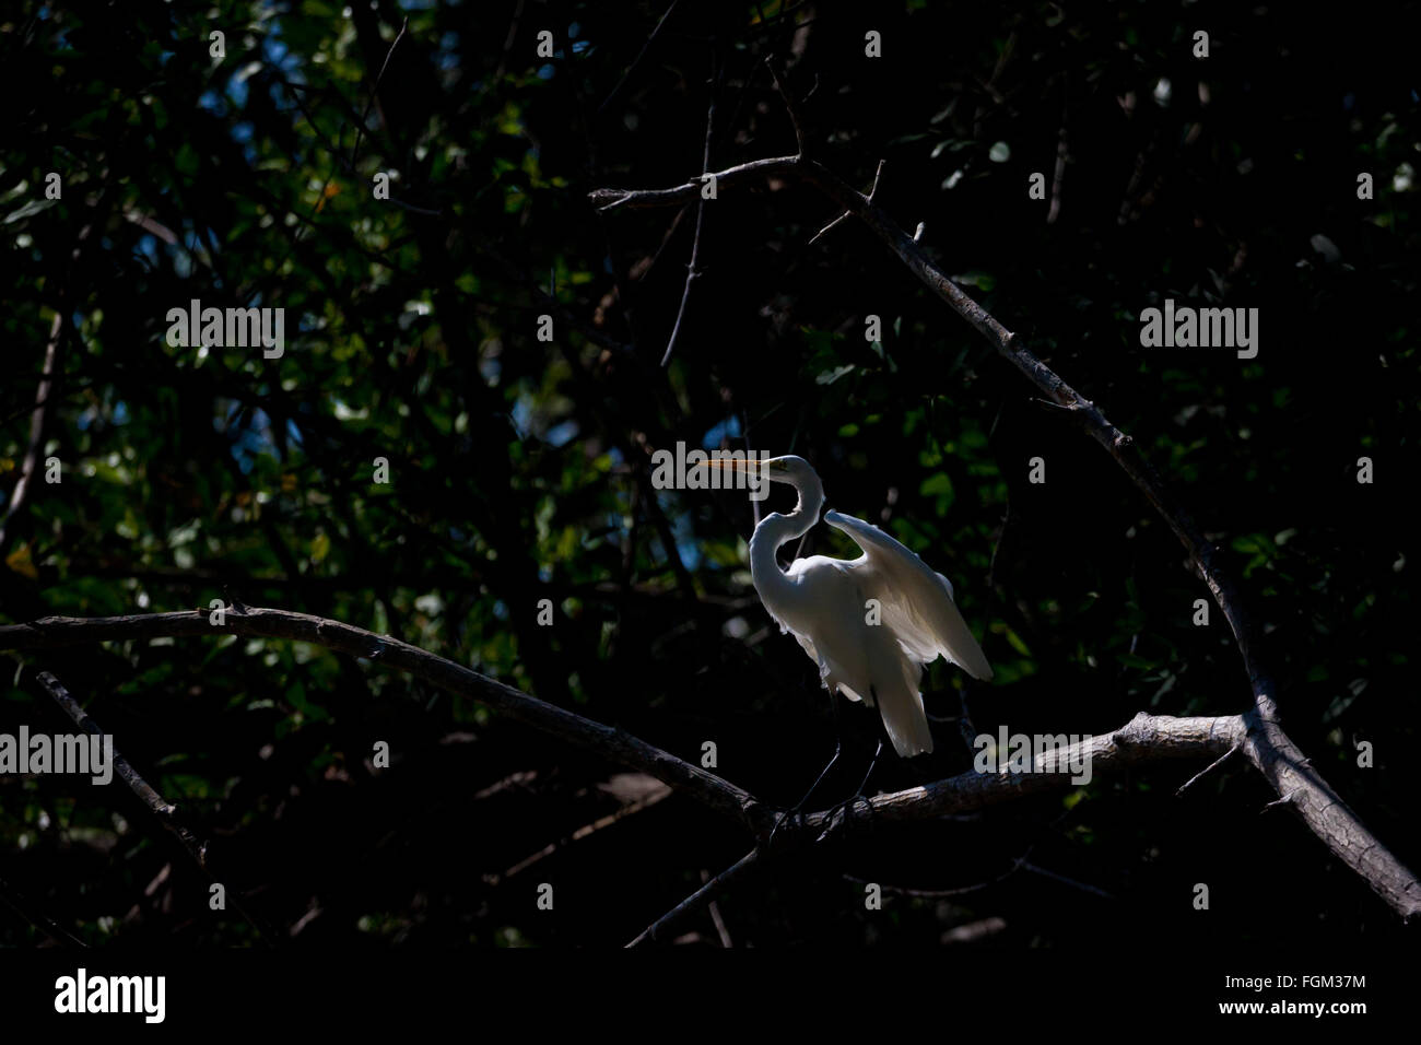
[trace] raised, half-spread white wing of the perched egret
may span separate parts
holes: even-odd
[[[860,586],[882,607],[882,623],[921,661],[941,653],[973,678],[992,678],[992,665],[952,601],[952,584],[918,554],[863,519],[826,512],[824,522],[854,539],[863,559],[848,566]]]

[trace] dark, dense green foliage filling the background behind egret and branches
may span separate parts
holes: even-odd
[[[750,509],[649,485],[657,448],[749,444],[809,458],[831,506],[951,577],[996,668],[963,702],[934,665],[938,749],[885,758],[874,786],[968,769],[963,708],[993,734],[1242,711],[1238,651],[1216,607],[1192,624],[1208,590],[1168,526],[865,229],[810,245],[837,213],[811,188],[706,203],[661,365],[696,206],[600,215],[587,193],[682,183],[706,151],[709,169],[793,152],[773,61],[823,162],[867,191],[885,161],[878,202],[1145,449],[1239,576],[1292,736],[1421,863],[1414,9],[682,0],[648,44],[662,4],[20,7],[0,24],[0,623],[213,599],[333,617],[686,759],[713,741],[716,772],[789,805],[836,724],[749,586]],[[1026,186],[1053,182],[1063,136],[1047,222]],[[283,307],[284,354],[171,345],[168,310],[193,299]],[[1258,307],[1258,358],[1142,348],[1140,313],[1165,299]],[[40,459],[63,482],[11,510],[51,330]],[[821,526],[810,553],[855,552]],[[573,840],[638,782],[318,647],[10,655],[0,732],[70,728],[34,680],[54,671],[301,944],[618,944],[749,847],[678,796]],[[847,715],[827,798],[872,728]],[[1295,819],[1259,815],[1275,796],[1242,763],[1175,798],[1199,768],[874,832],[774,864],[719,914],[757,944],[1394,931]],[[256,940],[118,785],[0,778],[0,880],[90,943]],[[871,913],[861,880],[986,884]],[[45,938],[6,910],[0,943]],[[685,931],[716,940],[705,916]]]

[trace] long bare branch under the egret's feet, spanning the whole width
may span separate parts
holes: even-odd
[[[767,843],[770,832],[780,822],[777,809],[757,800],[749,792],[622,729],[540,701],[398,638],[377,636],[324,617],[250,606],[227,610],[226,620],[220,626],[207,621],[209,614],[205,610],[128,617],[45,617],[28,624],[0,626],[0,650],[45,650],[85,643],[217,634],[266,636],[311,643],[408,671],[449,692],[480,700],[510,718],[594,751],[612,762],[641,769],[747,827],[760,843],[756,846],[756,853]],[[1218,758],[1241,742],[1255,768],[1279,795],[1286,796],[1286,803],[1302,815],[1313,833],[1340,860],[1366,879],[1367,884],[1404,918],[1421,914],[1421,881],[1417,881],[1417,877],[1367,832],[1356,813],[1307,765],[1302,752],[1282,729],[1276,724],[1259,725],[1253,711],[1218,718],[1174,718],[1140,712],[1108,735],[1043,752],[1025,772],[968,771],[925,786],[813,813],[800,822],[786,822],[776,837],[783,839],[789,849],[803,847],[836,837],[850,822],[925,820],[972,812],[1029,795],[1063,791],[1073,786],[1071,778],[1083,765],[1088,766],[1091,773],[1097,773],[1178,758]],[[706,889],[712,886],[715,881]],[[705,901],[709,899],[712,897],[706,896]]]

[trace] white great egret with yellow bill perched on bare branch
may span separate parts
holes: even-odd
[[[853,560],[817,554],[782,570],[779,547],[818,522],[824,506],[818,475],[797,456],[718,458],[705,466],[796,489],[794,510],[767,515],[750,536],[750,576],[760,601],[780,631],[791,633],[818,664],[830,700],[838,690],[877,707],[899,756],[929,754],[932,732],[918,691],[922,665],[941,654],[973,678],[992,678],[992,665],[952,601],[952,583],[877,526],[840,512],[826,512],[824,522],[853,537],[864,554]]]

